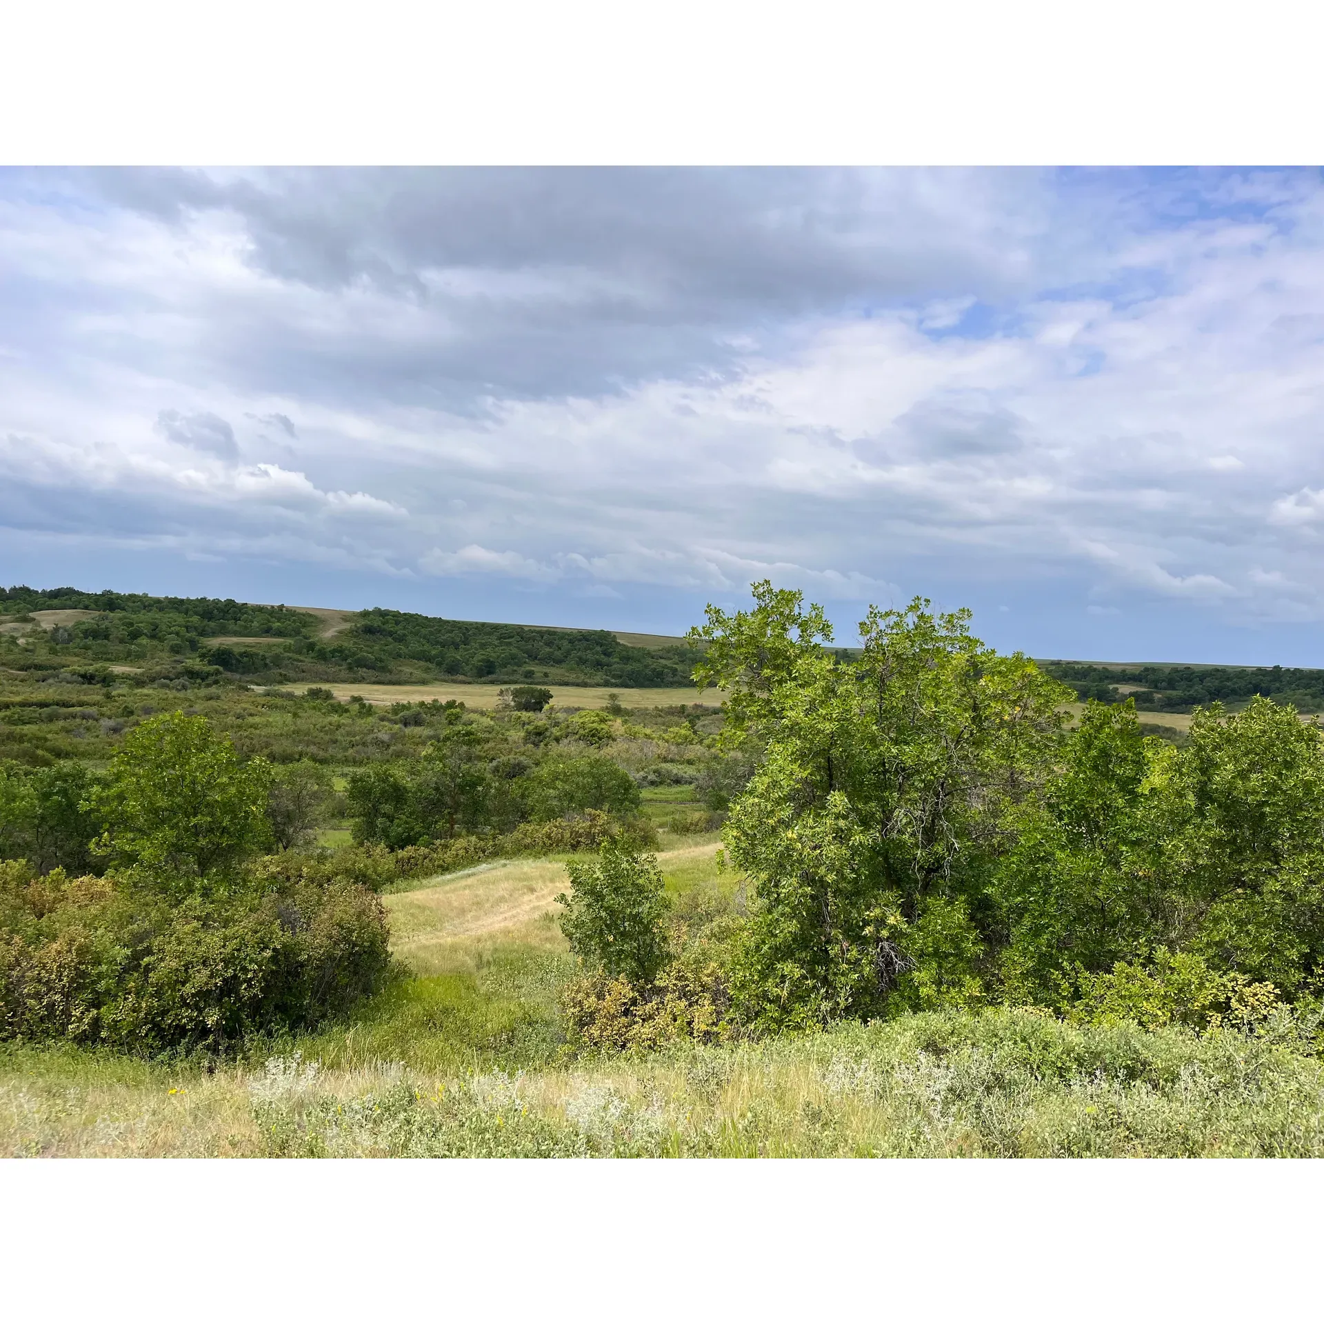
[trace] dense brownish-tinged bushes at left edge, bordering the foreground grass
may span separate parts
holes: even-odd
[[[273,883],[167,898],[0,865],[0,1037],[224,1050],[315,1025],[381,986],[375,896],[346,882]]]

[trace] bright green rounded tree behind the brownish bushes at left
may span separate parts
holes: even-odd
[[[162,714],[124,739],[93,789],[106,824],[97,849],[167,887],[225,875],[267,839],[269,785],[270,767],[241,763],[205,718]]]

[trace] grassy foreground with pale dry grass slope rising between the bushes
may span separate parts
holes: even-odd
[[[731,888],[673,839],[673,892]],[[387,898],[414,972],[238,1062],[0,1049],[0,1153],[45,1156],[1324,1156],[1324,1070],[1234,1033],[925,1013],[825,1034],[571,1057],[563,863]]]

